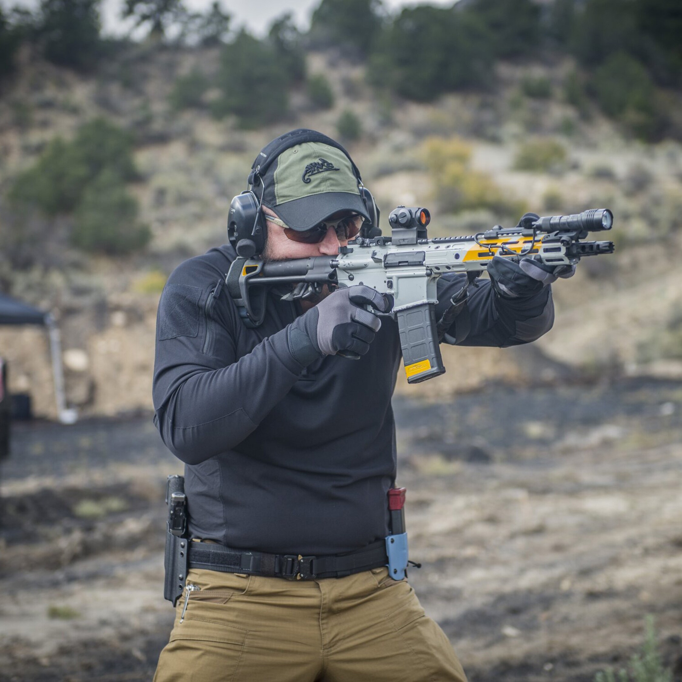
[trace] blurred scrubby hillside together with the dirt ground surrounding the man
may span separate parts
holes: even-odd
[[[177,75],[217,59],[139,46],[99,77],[25,59],[0,100],[0,190],[55,135],[105,116],[136,132],[130,190],[153,235],[132,256],[85,256],[55,224],[38,265],[0,258],[3,291],[58,319],[81,415],[70,427],[50,421],[44,331],[0,329],[10,389],[31,394],[39,417],[13,425],[0,462],[0,681],[151,679],[173,621],[162,599],[164,481],[180,471],[151,424],[160,291],[184,258],[223,243],[258,149],[300,126],[335,135],[349,102],[364,131],[349,148],[384,226],[400,203],[430,207],[434,236],[518,218],[447,210],[425,155],[433,137],[464,145],[466,173],[509,205],[615,216],[617,252],[554,286],[557,320],[539,342],[446,348],[444,376],[399,378],[399,483],[424,564],[410,580],[428,614],[472,682],[591,682],[627,662],[653,614],[664,662],[682,679],[682,145],[644,145],[597,112],[580,115],[561,95],[569,61],[501,63],[494,93],[414,104],[381,101],[363,67],[312,53],[331,110],[294,91],[288,121],[252,131],[206,109],[171,110]],[[524,95],[529,70],[548,79],[550,98]],[[563,160],[520,170],[536,139],[559,143]]]

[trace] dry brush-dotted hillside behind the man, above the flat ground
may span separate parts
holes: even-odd
[[[629,140],[596,111],[581,117],[561,95],[570,61],[501,63],[494,95],[455,94],[415,104],[379,100],[366,85],[364,67],[333,50],[311,53],[308,72],[327,76],[333,108],[315,110],[305,91],[295,90],[291,120],[244,131],[231,119],[216,121],[207,110],[175,112],[168,102],[178,74],[197,65],[210,71],[217,59],[210,49],[139,46],[99,78],[27,60],[0,101],[0,190],[55,135],[70,138],[95,116],[136,133],[140,179],[131,189],[153,235],[145,252],[86,257],[57,241],[46,243],[40,265],[13,269],[0,262],[7,293],[51,310],[59,320],[68,400],[81,414],[150,409],[155,310],[168,273],[184,258],[224,242],[229,202],[244,188],[246,170],[263,144],[297,126],[336,135],[336,120],[349,102],[364,131],[349,148],[379,201],[384,226],[400,203],[430,207],[430,234],[439,236],[518,218],[490,207],[447,212],[436,187],[438,169],[430,168],[425,151],[434,137],[440,146],[460,140],[466,148],[468,172],[479,174],[481,183],[469,198],[474,203],[485,205],[479,194],[497,192],[510,206],[545,214],[610,207],[617,253],[586,259],[572,280],[557,284],[557,323],[537,347],[548,361],[578,372],[606,368],[630,376],[682,376],[682,146]],[[525,96],[529,74],[546,79],[552,97]],[[563,160],[519,170],[518,155],[533,140],[558,144]],[[35,413],[54,417],[42,331],[0,329],[0,349],[10,363],[12,391],[30,393]],[[509,366],[507,356],[502,361],[499,351],[464,352],[456,370],[449,362],[441,392],[446,385],[449,393],[479,387],[499,372],[514,379],[523,374]]]

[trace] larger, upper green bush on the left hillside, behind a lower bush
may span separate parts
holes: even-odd
[[[132,137],[105,119],[81,126],[71,142],[55,138],[40,158],[10,188],[15,206],[36,207],[48,216],[69,213],[105,168],[121,179],[135,179]]]

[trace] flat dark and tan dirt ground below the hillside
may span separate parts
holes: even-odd
[[[471,682],[592,681],[655,616],[682,679],[682,383],[394,400],[410,580]],[[0,465],[0,681],[150,680],[163,489],[150,415],[14,424]]]

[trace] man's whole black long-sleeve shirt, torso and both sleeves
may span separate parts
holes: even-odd
[[[328,356],[303,367],[286,340],[297,303],[271,293],[263,325],[243,325],[223,286],[235,255],[222,246],[179,265],[158,309],[154,421],[186,464],[190,533],[306,555],[385,537],[396,477],[397,324],[382,318],[357,361]],[[463,278],[439,280],[439,308]],[[549,288],[507,301],[488,281],[470,288],[469,312],[467,345],[527,342],[553,321]]]

